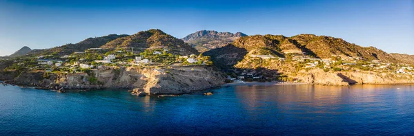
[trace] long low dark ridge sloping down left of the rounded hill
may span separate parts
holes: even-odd
[[[86,49],[101,47],[102,45],[105,45],[106,43],[110,41],[113,41],[117,38],[121,38],[125,36],[128,36],[128,35],[110,34],[108,36],[86,38],[85,40],[79,43],[75,43],[75,44],[70,43],[67,45],[53,47],[50,49],[33,49],[32,52],[28,53],[28,55],[39,56],[39,55],[48,55],[48,54],[54,54],[54,53],[57,53],[59,55],[68,55],[68,54],[72,54],[73,52],[83,52]]]

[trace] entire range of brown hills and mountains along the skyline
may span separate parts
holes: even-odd
[[[217,32],[201,30],[189,34],[184,38],[175,38],[161,30],[141,31],[137,34],[110,34],[95,38],[86,38],[75,43],[66,44],[50,49],[30,49],[23,47],[14,54],[7,56],[39,56],[57,53],[68,55],[73,52],[82,52],[89,48],[126,49],[135,48],[137,52],[144,49],[169,49],[174,54],[188,55],[204,52],[205,55],[217,58],[226,65],[235,65],[249,52],[255,54],[273,54],[286,57],[292,51],[303,52],[314,58],[331,58],[333,56],[363,58],[366,60],[382,60],[386,63],[414,64],[414,56],[407,54],[387,54],[375,47],[362,47],[348,43],[342,38],[331,36],[316,36],[314,34],[299,34],[286,37],[282,35],[254,35],[247,36],[242,32]],[[197,50],[196,50],[197,49]],[[218,59],[219,58],[219,59]]]

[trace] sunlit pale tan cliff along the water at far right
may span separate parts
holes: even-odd
[[[296,78],[310,84],[351,85],[351,84],[410,84],[411,76],[375,72],[324,72],[322,69],[299,71]]]

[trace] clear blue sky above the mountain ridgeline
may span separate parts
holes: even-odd
[[[0,0],[0,56],[151,28],[177,38],[198,30],[317,34],[414,54],[414,0]]]

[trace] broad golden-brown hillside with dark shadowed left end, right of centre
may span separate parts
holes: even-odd
[[[235,48],[237,49],[232,50]],[[244,50],[244,52],[239,52],[240,50]],[[286,57],[289,52],[294,51],[303,52],[314,58],[340,56],[342,58],[354,57],[366,60],[382,60],[386,63],[399,63],[393,56],[375,47],[361,47],[348,43],[342,38],[313,34],[299,34],[292,37],[270,34],[244,36],[224,47],[205,52],[205,55],[212,56],[218,64],[226,63],[228,66],[233,66],[236,65],[235,62],[242,60],[244,55],[253,50],[259,52],[259,55],[272,54],[282,58]],[[237,56],[237,58],[232,56]]]

